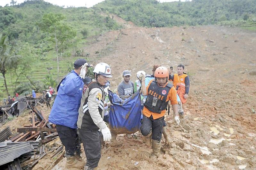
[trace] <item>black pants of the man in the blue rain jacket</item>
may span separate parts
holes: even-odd
[[[78,142],[77,129],[72,129],[67,126],[56,125],[57,132],[61,139],[62,144],[65,146],[66,157],[80,156],[81,145]]]

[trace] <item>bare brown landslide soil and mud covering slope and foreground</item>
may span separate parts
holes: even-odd
[[[183,63],[190,92],[178,127],[172,115],[166,115],[173,143],[168,146],[162,138],[157,161],[149,160],[152,149],[136,132],[131,137],[118,135],[119,145],[103,146],[96,169],[255,169],[256,33],[222,26],[146,28],[114,19],[124,28],[86,47],[91,63],[110,64],[112,90],[122,81],[123,70],[131,70],[135,81],[137,71],[150,74],[154,64],[176,68]],[[42,162],[48,162],[41,166],[45,169],[53,161]],[[65,169],[64,165],[65,158],[54,169]]]

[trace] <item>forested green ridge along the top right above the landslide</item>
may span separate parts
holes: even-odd
[[[169,3],[159,3],[156,0],[105,0],[93,8],[117,14],[137,26],[256,26],[255,0],[192,0]]]

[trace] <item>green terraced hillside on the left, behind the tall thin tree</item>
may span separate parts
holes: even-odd
[[[65,40],[63,44],[58,44],[60,79],[71,69],[72,62],[82,56],[85,58],[87,52],[84,48],[86,48],[85,43],[87,41],[96,41],[94,37],[99,34],[120,28],[113,19],[101,16],[92,8],[62,8],[41,0],[0,7],[0,34],[8,37],[9,44],[13,42],[17,44],[12,55],[22,55],[24,57],[22,60],[29,60],[27,66],[30,67],[24,75],[20,75],[16,84],[17,76],[14,74],[14,70],[12,67],[6,69],[6,83],[11,95],[15,91],[15,85],[17,87],[23,82],[29,82],[29,79],[26,78],[28,76],[37,85],[35,87],[31,83],[24,84],[24,86],[29,85],[27,89],[30,90],[45,88],[46,75],[52,75],[52,78],[57,81],[55,42],[49,33],[40,27],[43,16],[49,13],[62,14],[64,18],[60,23],[68,26],[75,34],[75,36]],[[24,45],[30,48],[29,54],[27,48],[21,49]],[[21,67],[17,68],[18,73],[21,71]],[[6,96],[4,78],[0,74],[0,97]]]

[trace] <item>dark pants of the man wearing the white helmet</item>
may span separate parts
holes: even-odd
[[[101,144],[100,133],[98,130],[79,129],[79,136],[81,137],[86,154],[86,165],[95,168],[101,158]]]

